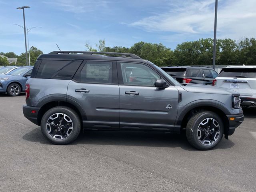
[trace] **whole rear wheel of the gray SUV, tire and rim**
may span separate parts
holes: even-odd
[[[41,120],[44,137],[53,144],[65,145],[73,142],[81,130],[78,114],[66,106],[48,110]]]

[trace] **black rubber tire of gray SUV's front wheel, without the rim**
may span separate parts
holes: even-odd
[[[211,144],[211,145],[204,145],[204,144],[202,144],[199,141],[198,136],[197,136],[198,126],[206,118],[213,118],[213,119],[215,119],[218,122],[219,126],[220,126],[220,135],[218,136],[218,139],[213,144]],[[208,150],[210,148],[214,148],[220,142],[220,140],[222,139],[223,133],[224,133],[224,124],[223,124],[221,118],[216,113],[214,113],[214,112],[207,112],[206,114],[200,116],[200,118],[198,118],[196,120],[196,122],[193,124],[192,130],[193,130],[192,137],[193,137],[193,140],[195,141],[195,144],[197,145],[197,148],[202,149],[202,150]]]

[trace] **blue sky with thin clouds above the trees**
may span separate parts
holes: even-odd
[[[86,50],[99,39],[106,46],[161,42],[172,50],[184,41],[213,38],[215,0],[0,0],[0,52],[25,52],[23,26],[30,46],[44,53]],[[217,38],[255,37],[256,0],[219,0]]]

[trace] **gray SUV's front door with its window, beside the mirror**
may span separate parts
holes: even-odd
[[[160,78],[160,74],[149,65],[118,63],[121,129],[173,129],[178,90],[172,85],[156,88],[154,84]]]

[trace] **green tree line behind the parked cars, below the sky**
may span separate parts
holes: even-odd
[[[95,48],[86,43],[88,51],[133,53],[149,60],[158,66],[212,65],[213,39],[199,39],[178,44],[174,50],[162,43],[137,42],[130,48],[122,46],[106,46],[105,40],[99,40]],[[17,65],[26,65],[26,54],[19,56],[14,52],[0,54],[17,58]],[[34,65],[36,58],[43,54],[36,47],[30,48],[30,63]],[[236,42],[230,38],[218,39],[216,43],[216,65],[256,65],[256,39],[244,38]],[[0,66],[9,65],[5,58],[0,57]],[[14,64],[10,64],[14,65]]]

